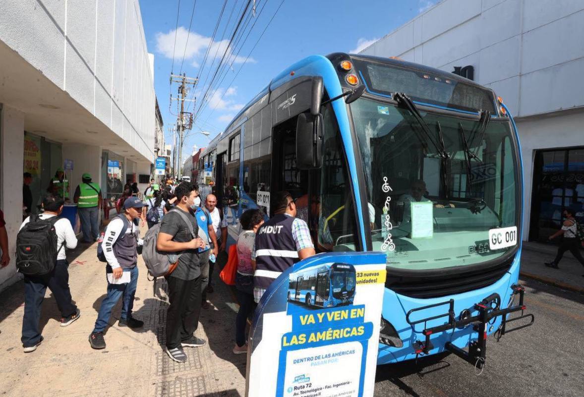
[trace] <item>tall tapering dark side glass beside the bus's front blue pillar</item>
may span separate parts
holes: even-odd
[[[353,198],[350,194],[345,151],[330,105],[324,109],[324,159],[314,186],[318,198],[311,207],[318,214],[318,250],[356,250]]]

